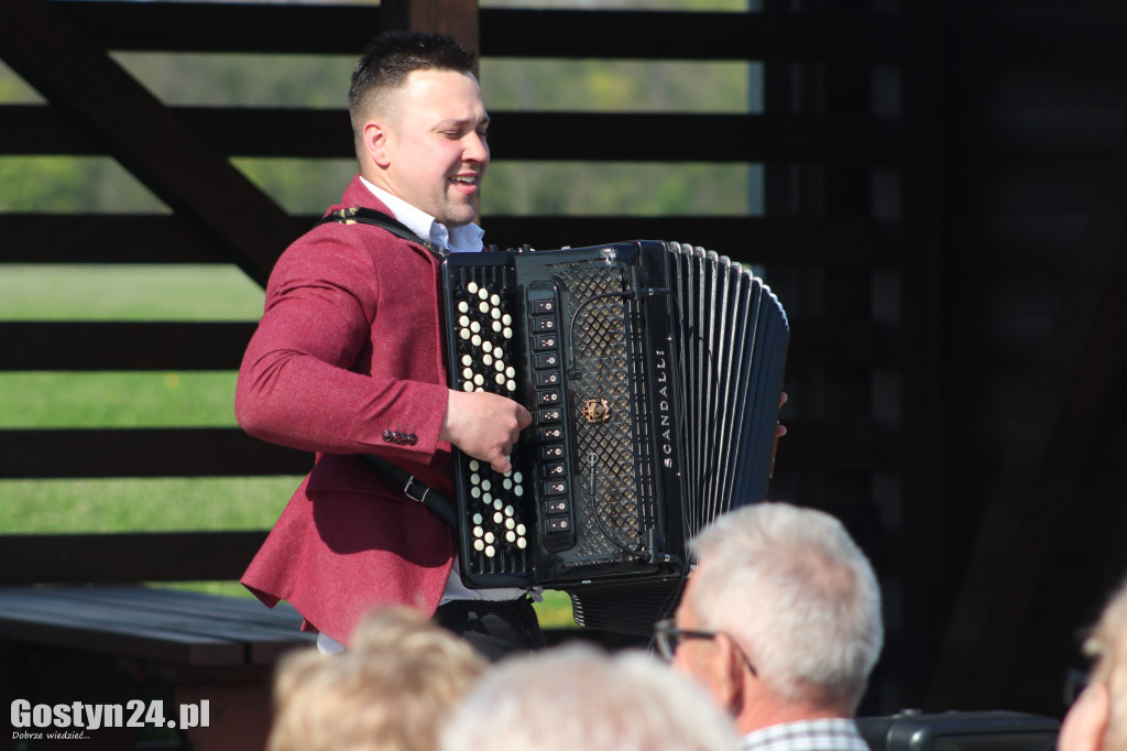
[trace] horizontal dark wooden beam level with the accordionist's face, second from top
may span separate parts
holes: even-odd
[[[216,154],[352,158],[344,111],[292,107],[170,107],[167,113]],[[499,161],[831,162],[859,166],[888,145],[868,115],[743,115],[491,111],[492,159]],[[0,106],[12,134],[6,153],[106,153],[96,132],[35,105]],[[496,131],[496,134],[494,134]],[[692,133],[692,139],[684,139]]]

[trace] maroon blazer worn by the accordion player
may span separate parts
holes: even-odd
[[[332,210],[357,205],[388,212],[358,176]],[[317,454],[242,583],[343,644],[373,606],[433,613],[450,575],[450,528],[356,456],[452,493],[438,290],[425,248],[367,224],[321,224],[274,267],[239,370],[242,428]]]

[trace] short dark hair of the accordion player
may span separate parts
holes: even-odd
[[[348,111],[355,117],[370,91],[402,86],[411,71],[472,73],[476,64],[477,55],[445,34],[385,32],[369,44],[353,70]]]

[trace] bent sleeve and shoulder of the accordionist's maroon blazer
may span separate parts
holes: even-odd
[[[320,227],[282,255],[236,416],[250,435],[300,450],[428,463],[449,451],[434,265],[398,239],[373,248],[373,231]]]

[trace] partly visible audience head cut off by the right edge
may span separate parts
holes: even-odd
[[[1088,688],[1061,726],[1061,751],[1127,751],[1127,582],[1084,640]]]

